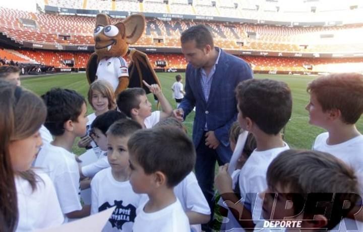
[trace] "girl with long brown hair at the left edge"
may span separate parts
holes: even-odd
[[[39,129],[45,117],[38,96],[0,80],[1,231],[33,231],[64,221],[49,177],[31,169],[42,145]]]

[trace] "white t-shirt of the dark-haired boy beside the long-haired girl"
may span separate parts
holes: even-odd
[[[48,143],[40,150],[34,166],[42,168],[52,180],[64,214],[82,209],[80,175],[73,153]]]

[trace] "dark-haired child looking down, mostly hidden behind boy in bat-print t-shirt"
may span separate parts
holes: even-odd
[[[92,164],[83,166],[81,168],[81,177],[92,178],[96,173],[102,169],[109,168],[107,161],[107,135],[106,132],[108,128],[117,120],[126,118],[126,115],[122,112],[115,110],[107,111],[103,113],[93,121],[91,125],[91,136],[96,142],[98,151],[95,152],[98,160]],[[86,186],[85,186],[86,187]]]

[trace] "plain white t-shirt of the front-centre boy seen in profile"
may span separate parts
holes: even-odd
[[[136,211],[136,219],[133,232],[190,232],[190,225],[183,207],[176,198],[176,201],[165,208],[152,213],[146,213],[144,202]]]

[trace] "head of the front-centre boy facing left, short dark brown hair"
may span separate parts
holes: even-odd
[[[128,142],[130,183],[136,193],[151,193],[159,187],[173,188],[194,168],[193,142],[171,126],[139,130]]]

